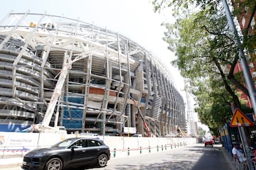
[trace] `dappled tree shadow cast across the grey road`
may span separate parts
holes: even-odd
[[[169,154],[169,159],[163,159],[159,164],[137,164],[133,166],[132,164],[122,164],[117,165],[114,169],[105,170],[138,170],[138,169],[157,169],[157,170],[216,170],[225,169],[230,170],[230,166],[227,165],[227,161],[223,156],[220,146],[215,147],[186,147],[188,153],[193,154]],[[200,155],[200,159],[195,159],[191,155]],[[220,157],[221,156],[221,157]],[[170,159],[171,158],[171,159]],[[172,161],[170,161],[172,160]],[[73,170],[84,170],[84,169],[95,169],[94,167],[85,167],[83,169],[73,169]],[[99,169],[99,168],[97,168]]]

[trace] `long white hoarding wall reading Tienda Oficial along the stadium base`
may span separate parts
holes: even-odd
[[[181,147],[196,144],[196,138],[185,137],[114,137],[60,135],[53,133],[0,132],[0,158],[22,157],[31,149],[48,147],[68,137],[98,137],[110,147],[110,151],[124,152],[127,149],[156,149],[156,147]]]

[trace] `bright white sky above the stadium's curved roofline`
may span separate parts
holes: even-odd
[[[171,66],[175,59],[168,44],[162,40],[166,28],[163,22],[172,22],[171,10],[154,13],[149,0],[8,0],[1,4],[0,21],[9,12],[47,13],[79,19],[85,23],[107,28],[137,42],[155,55],[170,69],[176,89],[186,102],[183,78],[178,69]]]

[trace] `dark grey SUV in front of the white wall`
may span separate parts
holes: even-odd
[[[96,138],[75,137],[48,148],[33,149],[23,157],[22,169],[62,170],[87,164],[106,166],[110,148]]]

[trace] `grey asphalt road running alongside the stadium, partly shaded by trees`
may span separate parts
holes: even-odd
[[[204,147],[203,144],[178,147],[154,153],[130,154],[125,157],[112,157],[104,168],[86,167],[83,169],[99,170],[135,170],[135,169],[159,169],[159,170],[232,170],[224,157],[221,145]],[[6,169],[7,170],[7,169]],[[8,170],[17,170],[8,169]]]

